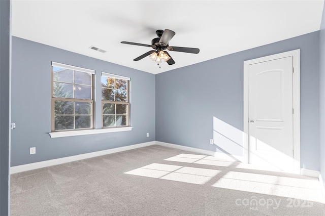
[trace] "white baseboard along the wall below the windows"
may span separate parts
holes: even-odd
[[[155,141],[10,167],[10,174],[155,145]]]

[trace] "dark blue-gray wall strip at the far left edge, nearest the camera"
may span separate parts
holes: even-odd
[[[0,1],[0,215],[9,215],[10,1]]]

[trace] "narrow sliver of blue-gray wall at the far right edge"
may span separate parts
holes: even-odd
[[[325,3],[324,3],[325,8]],[[319,33],[320,174],[325,185],[325,11]]]

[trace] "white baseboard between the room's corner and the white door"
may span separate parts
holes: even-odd
[[[214,152],[214,151],[209,151],[209,150],[204,150],[204,149],[197,149],[197,148],[188,147],[188,146],[181,146],[181,145],[176,145],[176,144],[171,144],[171,143],[164,143],[164,142],[160,142],[160,141],[156,141],[156,145],[170,147],[170,148],[174,148],[174,149],[180,149],[180,150],[184,150],[184,151],[195,152],[195,153],[199,153],[199,154],[210,155],[210,156],[214,156],[214,157],[217,157],[217,158],[220,158],[220,159],[228,159],[228,160],[234,160],[234,161],[240,161],[240,162],[242,162],[243,159],[244,159],[242,156],[228,155],[228,154],[221,153],[221,152]]]

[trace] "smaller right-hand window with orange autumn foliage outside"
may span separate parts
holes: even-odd
[[[129,126],[128,77],[102,72],[102,127]]]

